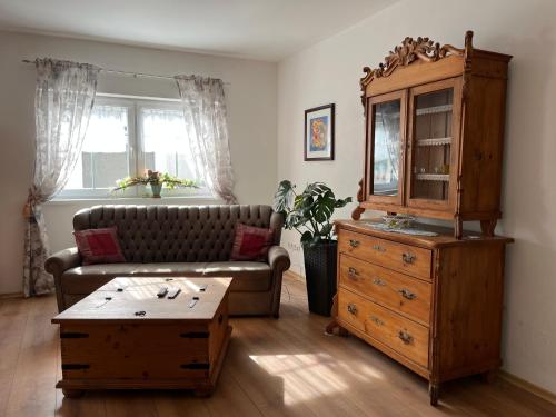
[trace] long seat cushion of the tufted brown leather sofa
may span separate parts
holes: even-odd
[[[64,294],[87,295],[115,277],[232,277],[230,291],[267,291],[271,271],[265,262],[98,264],[71,268],[61,276]]]

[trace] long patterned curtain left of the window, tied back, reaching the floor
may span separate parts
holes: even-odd
[[[53,290],[44,271],[49,247],[41,205],[68,181],[83,143],[100,68],[53,59],[37,59],[34,92],[36,157],[33,182],[24,207],[23,292]]]

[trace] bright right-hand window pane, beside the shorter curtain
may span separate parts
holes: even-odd
[[[145,168],[183,179],[197,176],[191,160],[183,113],[179,109],[147,108],[139,111]]]

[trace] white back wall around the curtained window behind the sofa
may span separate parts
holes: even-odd
[[[228,103],[235,192],[241,203],[269,203],[276,186],[276,63],[101,42],[0,32],[0,294],[20,292],[21,209],[31,183],[34,68],[21,59],[53,57],[125,71],[221,78]],[[177,98],[171,80],[101,75],[98,91]],[[148,203],[143,199],[131,203]],[[167,203],[190,203],[167,199]],[[71,217],[96,201],[44,207],[53,250],[72,245]]]

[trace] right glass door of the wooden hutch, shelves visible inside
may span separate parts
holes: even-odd
[[[441,85],[453,82],[441,82]],[[439,86],[433,86],[435,88]],[[409,158],[409,201],[428,200],[447,205],[450,173],[454,170],[454,86],[427,91],[411,91],[411,155]],[[423,91],[424,90],[424,91]],[[421,202],[423,203],[423,202]]]

